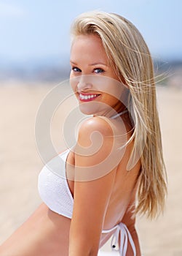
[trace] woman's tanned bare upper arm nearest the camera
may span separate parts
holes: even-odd
[[[77,243],[86,238],[87,243],[99,244],[116,173],[114,145],[113,129],[102,118],[91,118],[79,129],[71,221],[71,236]]]

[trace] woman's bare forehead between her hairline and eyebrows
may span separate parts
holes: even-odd
[[[71,45],[71,60],[77,59],[100,59],[107,61],[103,43],[97,35],[79,35],[74,38]]]

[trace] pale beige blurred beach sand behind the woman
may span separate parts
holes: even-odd
[[[37,177],[43,167],[36,148],[34,127],[42,99],[52,89],[44,83],[9,81],[0,86],[0,244],[27,219],[41,203]],[[162,128],[168,196],[163,216],[149,221],[138,217],[137,230],[145,256],[182,255],[182,90],[157,88]],[[68,105],[73,102],[68,102]],[[56,127],[66,113],[60,111],[52,124],[52,140],[58,151],[63,138]],[[55,114],[56,116],[56,114]],[[103,251],[110,251],[109,244]],[[107,255],[107,254],[106,254]],[[115,255],[115,254],[114,254]],[[10,255],[9,255],[10,256]]]

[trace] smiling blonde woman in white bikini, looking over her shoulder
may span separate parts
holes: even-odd
[[[135,215],[154,218],[165,204],[154,72],[143,37],[105,12],[80,15],[71,33],[70,83],[89,118],[76,145],[58,156],[61,175],[41,170],[44,203],[4,242],[2,256],[96,256],[110,237],[120,255],[140,256]]]

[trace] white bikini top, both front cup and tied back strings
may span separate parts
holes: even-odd
[[[68,153],[69,150],[66,150],[58,154],[58,156],[51,159],[47,165],[44,165],[39,173],[38,189],[41,200],[43,200],[52,211],[71,219],[74,208],[74,198],[71,195],[66,179],[66,159]],[[125,256],[127,252],[127,240],[129,238],[133,255],[135,256],[135,244],[132,241],[132,236],[127,226],[121,222],[110,230],[103,230],[102,233],[110,233],[114,230],[116,231],[111,240],[112,250],[118,251],[121,256]],[[120,246],[118,246],[119,249],[116,249],[118,242]]]

